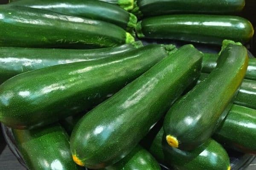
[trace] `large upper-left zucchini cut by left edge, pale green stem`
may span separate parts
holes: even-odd
[[[134,42],[121,27],[99,20],[8,4],[0,6],[0,16],[0,46],[99,48]]]

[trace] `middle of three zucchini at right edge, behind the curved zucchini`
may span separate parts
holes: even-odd
[[[198,83],[203,81],[207,76],[208,74],[202,73]],[[244,79],[234,103],[236,105],[256,109],[256,81]]]

